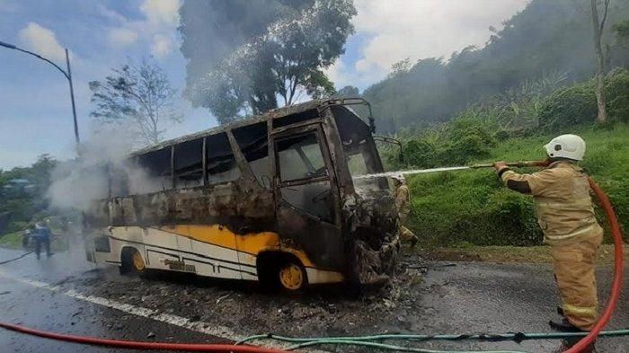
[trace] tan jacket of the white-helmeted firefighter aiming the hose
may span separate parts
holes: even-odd
[[[588,176],[576,164],[555,162],[532,174],[503,168],[499,176],[509,189],[535,197],[545,243],[578,243],[603,233],[594,215]]]

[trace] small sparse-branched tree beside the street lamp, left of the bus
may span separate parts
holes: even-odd
[[[96,105],[92,117],[102,124],[130,123],[146,144],[162,139],[164,124],[182,121],[174,110],[176,91],[154,60],[145,58],[139,65],[129,60],[112,71],[104,81],[89,84]]]

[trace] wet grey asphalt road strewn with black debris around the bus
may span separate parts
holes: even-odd
[[[22,252],[0,249],[0,261]],[[407,263],[419,260],[406,259]],[[420,262],[417,262],[420,263]],[[0,265],[0,321],[37,329],[123,340],[226,342],[256,333],[293,336],[384,332],[544,332],[556,295],[550,266],[490,263],[421,263],[404,269],[392,287],[354,293],[315,287],[301,295],[269,292],[242,282],[121,277],[96,268],[84,253],[61,252]],[[629,327],[629,276],[608,329]],[[612,269],[598,269],[599,296],[608,296]],[[85,299],[87,298],[87,299]],[[558,340],[443,342],[425,349],[513,349],[554,352]],[[335,351],[365,351],[344,347]],[[598,352],[629,351],[629,337],[600,339]],[[2,352],[128,352],[44,340],[0,329]]]

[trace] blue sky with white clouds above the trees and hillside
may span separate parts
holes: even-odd
[[[217,120],[194,109],[181,92],[186,60],[179,50],[178,9],[183,0],[0,0],[0,41],[35,51],[65,68],[70,51],[79,130],[94,128],[88,83],[112,67],[154,57],[178,90],[182,124],[165,137],[211,128]],[[483,47],[489,27],[530,0],[355,0],[356,32],[346,52],[327,68],[337,88],[362,91],[406,57],[449,57],[468,45]],[[40,154],[74,157],[74,130],[66,78],[53,66],[0,47],[0,169],[26,166]]]

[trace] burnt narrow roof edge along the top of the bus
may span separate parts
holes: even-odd
[[[161,150],[163,148],[166,148],[166,147],[169,147],[169,146],[178,145],[178,144],[180,144],[182,142],[194,140],[194,139],[197,139],[197,138],[209,137],[209,136],[212,136],[212,135],[217,135],[218,133],[221,133],[221,132],[224,132],[224,131],[232,130],[234,128],[241,128],[241,127],[252,125],[252,124],[255,124],[255,123],[267,121],[269,119],[279,119],[279,118],[283,118],[283,117],[288,117],[290,115],[305,113],[307,111],[316,111],[316,110],[321,109],[322,107],[327,108],[327,107],[332,107],[332,106],[357,105],[357,104],[365,104],[365,105],[368,106],[368,112],[369,112],[368,119],[369,119],[369,126],[370,126],[369,128],[373,132],[373,129],[374,129],[373,128],[373,118],[371,117],[371,107],[370,107],[368,101],[365,101],[362,98],[313,100],[313,101],[306,101],[304,103],[288,105],[286,107],[281,107],[281,108],[277,108],[277,109],[274,109],[274,110],[269,110],[269,111],[264,112],[264,113],[262,113],[260,115],[252,116],[251,118],[237,120],[237,121],[231,122],[231,123],[223,125],[223,126],[218,126],[216,128],[208,128],[208,129],[205,129],[205,130],[201,130],[199,132],[195,132],[193,134],[185,135],[185,136],[182,136],[182,137],[176,137],[176,138],[173,138],[173,139],[161,142],[161,143],[153,145],[153,146],[147,146],[145,148],[139,149],[139,150],[129,154],[129,157],[135,157],[135,156],[147,154],[147,153],[150,153],[150,152],[158,151],[158,150]],[[318,111],[317,111],[317,113],[318,113]],[[317,116],[318,115],[316,115],[316,116],[313,115],[312,117],[306,116],[305,118],[306,119],[314,119]]]

